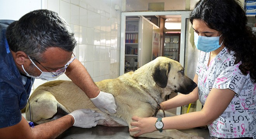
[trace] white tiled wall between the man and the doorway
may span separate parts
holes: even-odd
[[[44,0],[43,8],[61,15],[75,34],[76,58],[94,81],[119,76],[121,0]],[[64,74],[56,80],[69,80]],[[35,80],[32,92],[47,81]]]

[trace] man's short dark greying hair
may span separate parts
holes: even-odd
[[[23,51],[38,61],[43,61],[42,53],[49,47],[72,52],[76,46],[69,24],[50,10],[35,10],[12,22],[6,37],[12,51]]]

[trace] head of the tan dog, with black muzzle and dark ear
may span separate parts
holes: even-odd
[[[189,94],[197,87],[197,84],[184,74],[180,63],[169,58],[161,59],[152,76],[159,87],[182,94]]]

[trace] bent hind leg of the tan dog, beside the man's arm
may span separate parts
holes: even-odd
[[[36,124],[49,122],[69,113],[50,92],[43,92],[29,98],[29,102],[31,120]],[[30,120],[29,105],[26,107],[26,119]]]

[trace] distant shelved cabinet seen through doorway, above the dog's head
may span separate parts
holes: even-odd
[[[164,34],[163,56],[180,62],[180,34]]]

